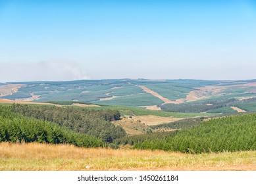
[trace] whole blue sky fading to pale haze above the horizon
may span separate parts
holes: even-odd
[[[0,81],[256,78],[256,1],[0,0]]]

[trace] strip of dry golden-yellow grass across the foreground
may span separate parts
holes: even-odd
[[[0,170],[256,170],[256,151],[182,154],[0,143]]]

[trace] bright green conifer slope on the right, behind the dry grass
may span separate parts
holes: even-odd
[[[255,129],[256,113],[228,116],[177,131],[164,139],[147,139],[134,147],[193,153],[256,150]]]

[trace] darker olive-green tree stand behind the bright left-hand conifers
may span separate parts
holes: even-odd
[[[92,110],[88,108],[57,107],[57,106],[28,106],[13,104],[9,107],[12,112],[39,120],[54,122],[78,133],[93,135],[107,143],[123,137],[126,132],[120,126],[114,126],[111,121],[119,120],[117,110]]]

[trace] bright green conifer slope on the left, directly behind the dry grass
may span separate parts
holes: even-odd
[[[70,144],[77,147],[106,145],[94,136],[14,113],[9,106],[0,106],[0,142]]]

